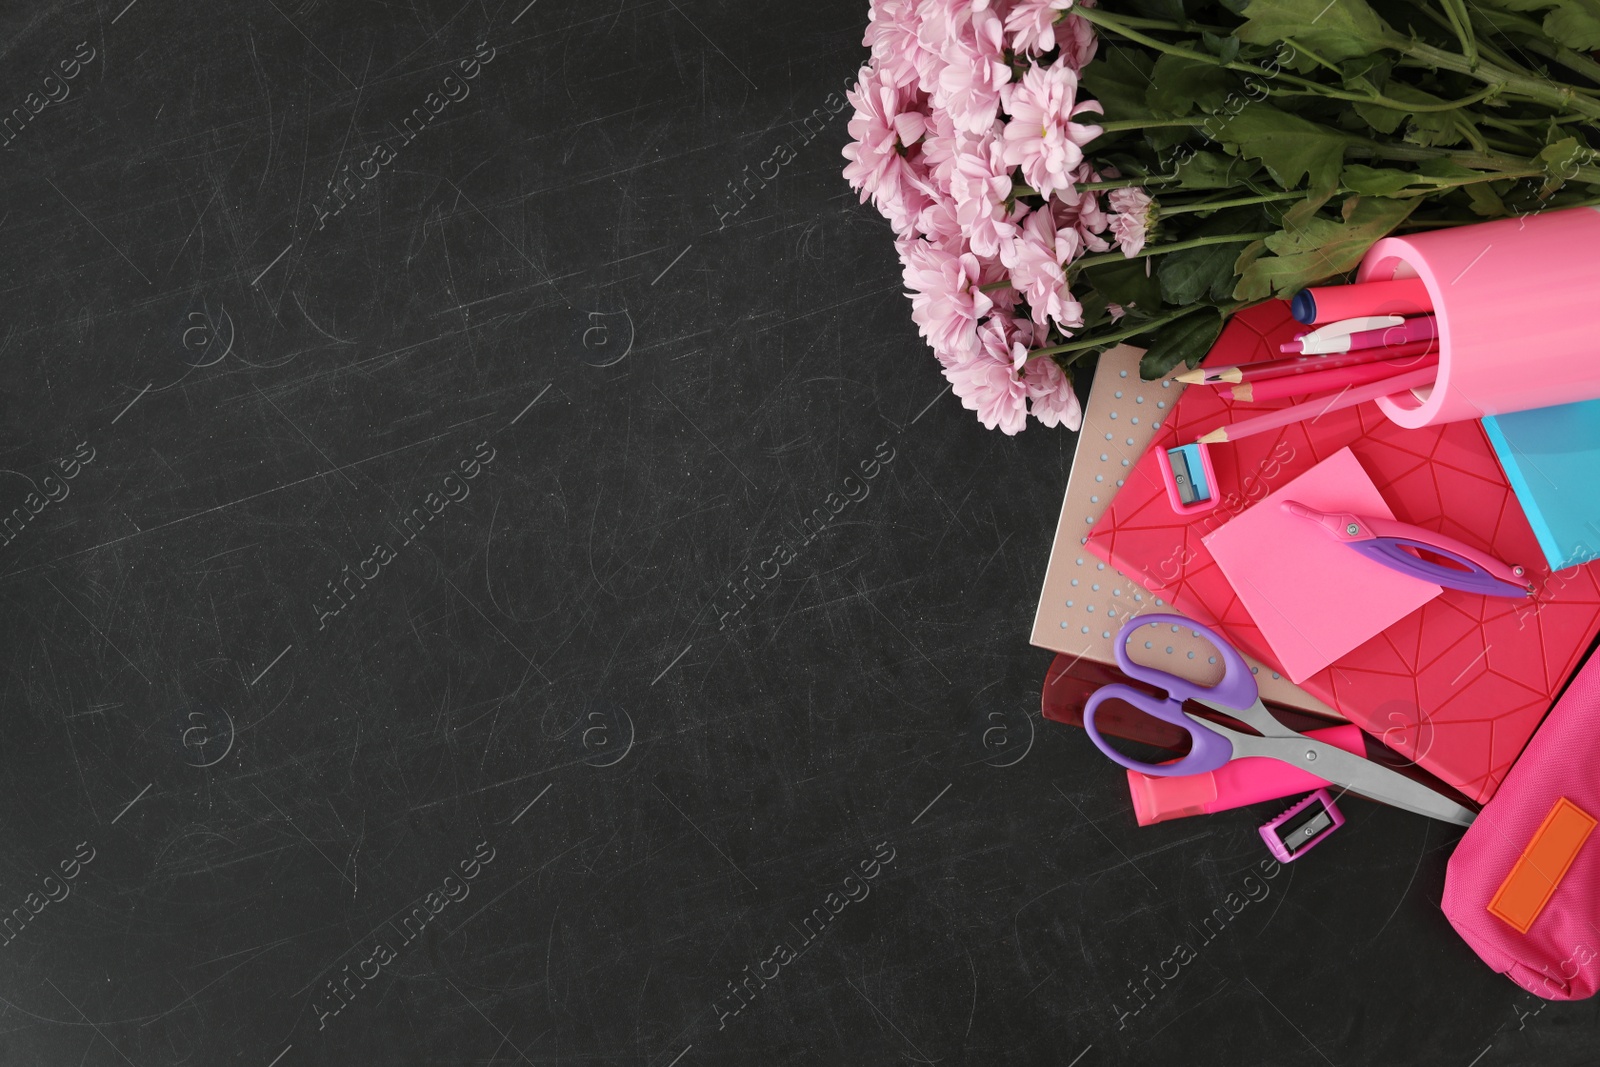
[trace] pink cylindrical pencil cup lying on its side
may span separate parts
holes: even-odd
[[[1600,397],[1600,210],[1386,237],[1357,280],[1419,277],[1438,323],[1430,387],[1379,410],[1416,429]]]

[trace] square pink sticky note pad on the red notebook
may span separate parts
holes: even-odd
[[[1317,523],[1283,510],[1394,518],[1349,448],[1203,537],[1206,550],[1272,646],[1278,667],[1302,681],[1443,592],[1339,544]]]

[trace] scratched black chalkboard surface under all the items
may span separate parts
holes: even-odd
[[[1454,830],[1251,880],[1269,813],[1141,830],[1038,720],[1074,437],[942,394],[838,173],[864,3],[8,8],[6,114],[94,58],[0,152],[0,514],[93,461],[0,552],[0,910],[93,861],[0,1062],[1597,1062],[1450,929]]]

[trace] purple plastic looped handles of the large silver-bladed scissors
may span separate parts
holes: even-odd
[[[1157,667],[1146,667],[1133,662],[1128,657],[1128,638],[1142,627],[1163,624],[1171,625],[1174,630],[1182,627],[1195,637],[1203,637],[1211,641],[1211,645],[1216,646],[1218,656],[1222,657],[1222,680],[1214,686],[1205,686],[1197,681],[1189,681],[1187,678],[1179,678],[1178,675]],[[1117,632],[1115,651],[1117,665],[1125,675],[1154,685],[1166,693],[1166,697],[1162,699],[1158,696],[1141,693],[1133,686],[1112,683],[1096,691],[1094,696],[1091,696],[1083,705],[1083,729],[1088,733],[1090,741],[1094,742],[1096,749],[1130,771],[1141,771],[1144,774],[1155,774],[1160,777],[1174,777],[1179,774],[1214,771],[1234,758],[1232,742],[1203,720],[1184,712],[1184,701],[1203,701],[1208,707],[1214,707],[1219,712],[1242,718],[1251,726],[1256,726],[1256,721],[1254,717],[1248,717],[1250,709],[1259,709],[1261,715],[1272,720],[1266,705],[1261,704],[1261,691],[1256,688],[1256,677],[1251,673],[1250,664],[1245,662],[1245,657],[1240,656],[1234,646],[1224,641],[1218,633],[1200,625],[1194,619],[1186,619],[1181,614],[1141,614],[1128,619]],[[1146,715],[1160,718],[1162,721],[1184,729],[1189,734],[1189,755],[1181,760],[1174,760],[1173,763],[1141,763],[1139,760],[1131,760],[1112,749],[1094,726],[1096,709],[1099,709],[1104,701],[1112,697],[1120,699],[1123,704],[1131,704]],[[1272,721],[1275,723],[1277,720]]]

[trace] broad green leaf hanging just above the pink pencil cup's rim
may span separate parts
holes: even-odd
[[[1358,197],[1354,205],[1346,202],[1347,218],[1342,222],[1318,214],[1304,226],[1274,234],[1267,238],[1267,251],[1274,254],[1250,264],[1234,290],[1234,299],[1261,299],[1246,296],[1261,291],[1286,296],[1354,269],[1373,242],[1400,226],[1418,203],[1419,197]]]

